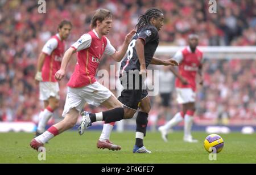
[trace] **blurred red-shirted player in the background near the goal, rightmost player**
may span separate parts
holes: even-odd
[[[199,37],[195,34],[188,36],[189,46],[183,50],[179,50],[174,59],[179,62],[179,71],[171,67],[171,71],[177,77],[175,82],[177,92],[177,102],[182,104],[181,112],[166,123],[159,127],[162,138],[167,142],[168,130],[184,120],[184,138],[185,142],[197,142],[192,138],[191,129],[193,123],[193,114],[195,113],[196,100],[196,74],[199,74],[200,84],[203,84],[201,69],[203,61],[203,53],[197,49]]]

